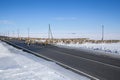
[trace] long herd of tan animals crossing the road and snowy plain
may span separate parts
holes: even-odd
[[[11,38],[12,39],[12,38]],[[16,38],[18,39],[18,38]],[[84,44],[84,43],[118,43],[120,40],[91,40],[89,38],[67,38],[67,39],[48,39],[48,38],[19,38],[19,40],[24,40],[28,45],[30,44],[56,44],[56,43],[64,43],[64,44]]]

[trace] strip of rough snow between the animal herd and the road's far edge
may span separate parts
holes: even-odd
[[[120,57],[120,43],[101,43],[101,44],[95,44],[95,43],[84,43],[84,44],[65,44],[65,43],[57,43],[55,44],[59,47],[65,47],[65,48],[74,48],[74,49],[83,49],[92,51],[95,50],[97,52],[101,52],[104,54]]]

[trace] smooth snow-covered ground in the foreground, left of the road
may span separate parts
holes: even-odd
[[[90,80],[0,41],[0,80]]]

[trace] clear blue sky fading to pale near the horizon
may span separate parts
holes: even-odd
[[[0,0],[0,33],[47,33],[48,24],[54,34],[92,36],[103,24],[120,39],[120,0]]]

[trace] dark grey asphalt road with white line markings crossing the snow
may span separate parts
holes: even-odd
[[[120,80],[119,58],[95,55],[83,50],[66,49],[52,45],[27,46],[24,41],[18,40],[10,40],[10,42],[49,57],[100,80]]]

